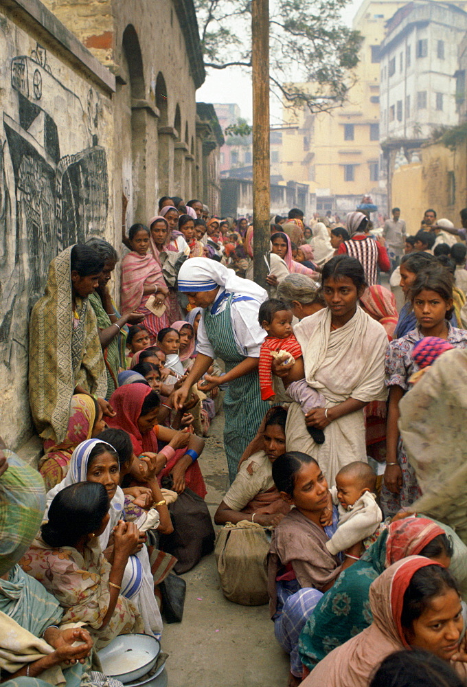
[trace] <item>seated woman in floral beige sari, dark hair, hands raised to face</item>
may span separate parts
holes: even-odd
[[[113,530],[113,562],[106,561],[99,537],[109,524],[109,497],[102,484],[79,482],[60,491],[20,561],[65,609],[62,622],[83,622],[96,648],[128,632],[143,632],[133,602],[119,594],[128,556],[138,543],[134,523]]]

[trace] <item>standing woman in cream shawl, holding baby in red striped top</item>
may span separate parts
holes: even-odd
[[[326,398],[325,408],[304,416],[299,405],[288,410],[287,451],[302,451],[315,458],[329,484],[341,467],[354,460],[366,462],[363,408],[385,401],[383,326],[367,315],[358,299],[365,291],[365,273],[356,258],[336,256],[321,273],[327,308],[305,317],[294,327],[304,355],[308,385]],[[282,368],[288,369],[288,365]],[[273,364],[276,374],[282,370]],[[315,444],[306,423],[323,429],[323,444]]]

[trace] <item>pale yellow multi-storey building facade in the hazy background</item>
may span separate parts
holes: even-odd
[[[405,5],[397,0],[364,0],[353,21],[363,43],[355,84],[343,107],[312,115],[284,109],[284,120],[297,128],[282,131],[281,173],[284,182],[308,183],[317,210],[354,210],[371,193],[385,212],[385,182],[380,179],[379,45],[386,21]]]

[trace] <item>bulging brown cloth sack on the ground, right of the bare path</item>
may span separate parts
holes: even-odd
[[[225,598],[242,606],[269,602],[268,551],[266,532],[258,523],[241,520],[220,530],[214,552]]]

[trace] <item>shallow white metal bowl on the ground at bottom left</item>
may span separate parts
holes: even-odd
[[[161,645],[152,635],[118,635],[98,651],[102,673],[127,684],[154,668]]]

